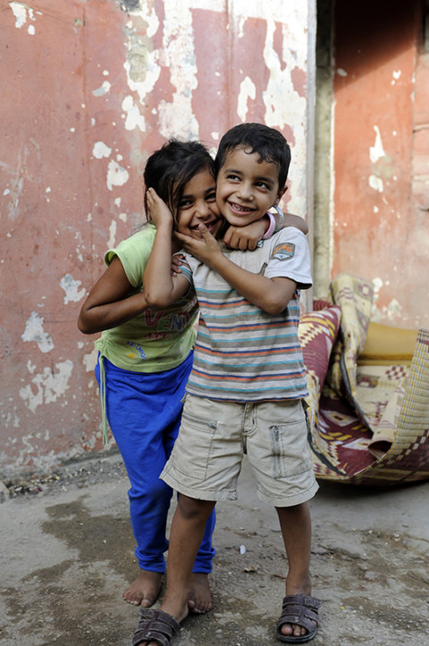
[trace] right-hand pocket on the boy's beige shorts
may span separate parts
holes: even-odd
[[[307,421],[290,421],[270,426],[273,452],[273,477],[288,478],[310,471],[311,457],[307,444]]]

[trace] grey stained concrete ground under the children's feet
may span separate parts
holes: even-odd
[[[117,454],[69,465],[41,487],[4,489],[1,646],[130,644],[138,610],[122,601],[137,571],[127,489]],[[384,490],[321,483],[311,504],[312,574],[324,604],[311,643],[429,644],[428,495],[429,482]],[[276,515],[257,500],[247,463],[239,496],[217,506],[214,610],[187,619],[175,646],[280,643],[273,626],[287,563]]]

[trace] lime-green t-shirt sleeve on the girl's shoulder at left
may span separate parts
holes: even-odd
[[[139,287],[142,284],[143,272],[152,251],[154,239],[155,231],[152,231],[151,227],[145,227],[137,234],[120,242],[114,249],[109,249],[105,253],[105,264],[108,267],[117,256],[122,262],[130,285]]]

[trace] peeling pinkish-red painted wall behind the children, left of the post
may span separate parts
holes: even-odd
[[[101,448],[96,336],[76,319],[106,249],[144,219],[142,171],[165,138],[215,148],[242,121],[280,128],[284,206],[311,218],[314,13],[312,0],[2,4],[2,474]]]

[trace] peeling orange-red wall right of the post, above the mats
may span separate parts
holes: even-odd
[[[373,282],[374,319],[429,327],[424,4],[338,2],[331,274]]]

